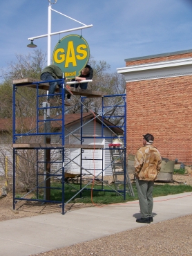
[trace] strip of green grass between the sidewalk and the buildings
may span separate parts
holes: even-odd
[[[68,184],[65,185],[65,202],[71,199],[79,190],[80,186],[77,184],[71,184],[72,187]],[[113,187],[113,185],[111,185]],[[52,187],[59,187],[61,188],[60,183],[52,184]],[[91,185],[87,186],[86,188],[91,188]],[[94,189],[102,189],[101,185],[95,185]],[[108,186],[104,186],[104,190],[110,190]],[[97,204],[110,204],[110,203],[122,203],[126,201],[134,201],[137,200],[137,189],[135,184],[133,184],[133,191],[135,196],[129,196],[126,194],[126,200],[124,201],[123,196],[120,196],[116,192],[107,192],[107,191],[95,191],[93,190],[93,202]],[[153,197],[157,196],[166,196],[169,194],[180,194],[184,192],[192,192],[192,186],[190,185],[159,185],[155,183],[153,189]],[[43,196],[41,197],[41,199]],[[61,201],[61,190],[51,190],[51,200],[52,201]],[[70,203],[92,203],[91,201],[91,192],[90,190],[83,190],[81,194],[77,194],[75,198],[70,201]]]

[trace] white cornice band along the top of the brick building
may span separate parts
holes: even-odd
[[[192,58],[117,68],[126,82],[192,75]]]

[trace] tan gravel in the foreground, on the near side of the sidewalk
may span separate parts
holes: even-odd
[[[192,214],[36,255],[192,255]]]

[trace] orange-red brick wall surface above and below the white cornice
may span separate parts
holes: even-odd
[[[131,62],[131,65],[192,57],[192,53]],[[147,61],[147,62],[146,62]],[[126,62],[126,66],[130,63]],[[162,157],[192,163],[192,75],[128,82],[127,152],[142,146],[142,134],[155,137]]]

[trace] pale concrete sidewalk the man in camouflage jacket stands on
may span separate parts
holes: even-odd
[[[153,223],[192,214],[192,193],[154,199]],[[65,215],[43,214],[0,222],[0,255],[23,256],[70,246],[117,232],[153,225],[136,223],[138,201],[91,207]]]

